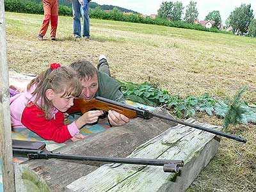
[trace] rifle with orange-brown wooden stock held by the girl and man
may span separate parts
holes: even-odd
[[[95,97],[94,99],[86,102],[84,99],[78,98],[74,99],[74,106],[72,108],[68,109],[67,113],[86,113],[87,111],[90,111],[91,109],[99,109],[99,110],[113,110],[120,114],[123,114],[127,116],[128,118],[144,118],[144,119],[150,119],[153,116],[156,116],[158,118],[163,118],[165,120],[170,120],[171,122],[175,122],[177,124],[186,125],[189,127],[193,127],[195,129],[199,129],[206,132],[211,132],[212,134],[216,134],[218,136],[223,136],[225,138],[229,138],[232,140],[240,141],[243,143],[246,143],[246,139],[241,138],[240,136],[234,136],[232,134],[227,134],[226,132],[216,131],[214,129],[209,129],[207,127],[202,127],[200,125],[195,124],[189,124],[188,122],[184,122],[182,120],[177,120],[175,118],[172,118],[170,116],[161,115],[158,113],[152,113],[146,109],[143,108],[134,108],[132,106],[129,106],[127,104],[116,102],[115,100],[106,99],[104,97]]]

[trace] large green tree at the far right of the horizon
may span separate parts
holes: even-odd
[[[232,26],[234,34],[244,35],[248,32],[248,27],[250,26],[253,17],[251,4],[241,4],[241,6],[235,8],[235,10],[230,13],[226,24]]]

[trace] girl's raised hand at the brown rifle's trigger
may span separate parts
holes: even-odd
[[[76,126],[78,129],[81,129],[85,124],[93,124],[98,121],[99,116],[103,115],[103,111],[95,110],[95,111],[88,111],[84,113],[84,115],[80,116],[76,120]]]

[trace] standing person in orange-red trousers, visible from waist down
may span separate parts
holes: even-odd
[[[58,26],[58,0],[42,0],[44,6],[44,20],[38,33],[38,40],[44,40],[51,21],[51,40],[56,40],[56,31]]]

